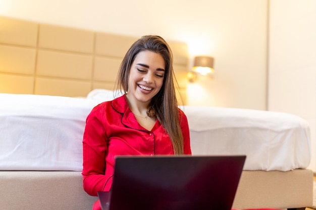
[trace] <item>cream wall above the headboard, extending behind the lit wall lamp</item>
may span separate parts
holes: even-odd
[[[188,87],[189,105],[266,109],[267,0],[2,0],[0,15],[186,42],[216,69]]]

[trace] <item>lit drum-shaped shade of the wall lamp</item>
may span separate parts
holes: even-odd
[[[208,56],[197,56],[194,58],[193,72],[201,75],[214,73],[214,58]]]

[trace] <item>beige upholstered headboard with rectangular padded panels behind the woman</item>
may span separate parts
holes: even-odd
[[[123,56],[138,38],[0,16],[0,93],[81,97],[113,90]],[[187,45],[168,43],[186,104]]]

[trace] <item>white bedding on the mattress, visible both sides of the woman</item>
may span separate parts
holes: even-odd
[[[0,101],[0,170],[82,170],[85,119],[100,99],[0,94]],[[244,170],[288,171],[309,164],[309,127],[297,116],[182,108],[193,155],[245,154]]]

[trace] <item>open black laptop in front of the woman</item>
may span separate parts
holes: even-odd
[[[230,210],[246,156],[119,156],[102,210]]]

